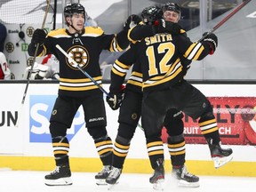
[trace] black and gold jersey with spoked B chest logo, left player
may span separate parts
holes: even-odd
[[[105,35],[99,27],[85,27],[81,34],[70,34],[68,29],[60,28],[51,31],[46,36],[44,46],[41,46],[37,55],[43,56],[52,53],[60,60],[60,95],[82,97],[88,93],[100,92],[100,89],[55,47],[56,44],[59,44],[88,75],[101,85],[100,52],[102,50],[123,51],[129,45],[126,36],[127,33],[124,31],[117,35]],[[35,48],[31,47],[33,44],[29,44],[28,52],[30,55],[34,55]]]

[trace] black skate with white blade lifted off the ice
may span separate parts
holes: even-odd
[[[228,162],[230,162],[233,158],[232,153],[233,150],[231,148],[221,148],[220,147],[220,143],[217,145],[212,144],[211,142],[212,140],[210,140],[210,142],[208,142],[210,151],[211,151],[211,156],[212,156],[212,160],[214,162],[214,167],[215,169],[220,168],[221,166],[228,164]]]

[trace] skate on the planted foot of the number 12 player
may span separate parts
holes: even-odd
[[[164,190],[162,183],[164,182],[164,160],[158,159],[156,161],[156,168],[153,176],[149,178],[149,182],[153,184],[155,190]]]

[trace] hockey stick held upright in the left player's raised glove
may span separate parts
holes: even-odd
[[[42,27],[41,27],[42,29],[44,28],[44,24],[45,24],[45,21],[46,21],[46,18],[47,18],[47,14],[49,12],[50,3],[51,3],[51,0],[47,0],[47,6],[46,6],[46,9],[45,9],[45,13],[44,13],[44,20],[43,20]],[[30,73],[28,73],[27,84],[26,84],[25,91],[23,93],[23,97],[22,97],[22,100],[21,100],[20,114],[18,114],[18,119],[17,119],[17,122],[15,124],[16,127],[18,127],[19,124],[20,124],[19,116],[21,115],[21,111],[22,111],[22,108],[23,108],[25,100],[26,100],[26,96],[27,96],[27,92],[28,92],[28,84],[30,83],[30,76],[32,74],[32,70],[33,70],[34,64],[36,62],[36,54],[38,52],[38,48],[39,48],[39,44],[36,44],[36,52],[35,52],[34,57],[33,57]]]

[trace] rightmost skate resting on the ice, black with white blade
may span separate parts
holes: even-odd
[[[172,167],[172,177],[178,180],[180,187],[198,188],[200,186],[199,178],[189,173],[185,165],[179,168]]]

